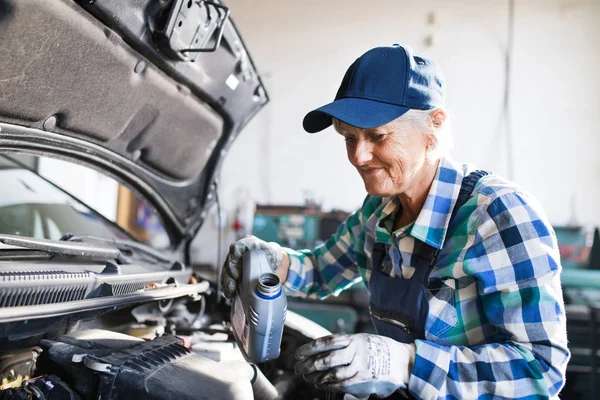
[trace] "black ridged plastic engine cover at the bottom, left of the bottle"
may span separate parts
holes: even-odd
[[[43,340],[41,368],[57,367],[84,399],[252,399],[250,381],[164,335],[151,341],[102,330]],[[56,365],[58,364],[58,365]]]

